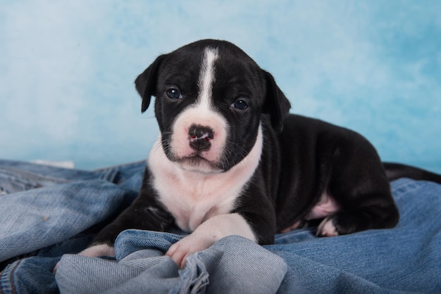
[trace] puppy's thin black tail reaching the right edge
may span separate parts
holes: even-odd
[[[399,163],[383,162],[386,176],[389,181],[398,178],[406,177],[416,180],[435,181],[441,184],[441,174],[435,174],[427,170],[422,170],[418,167],[411,167],[410,165],[401,165]]]

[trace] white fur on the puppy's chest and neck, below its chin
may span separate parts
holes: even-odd
[[[259,127],[254,147],[241,162],[227,172],[203,173],[183,170],[168,160],[159,137],[151,149],[149,167],[159,199],[175,217],[176,224],[185,231],[194,231],[207,219],[230,212],[259,165],[262,144]]]

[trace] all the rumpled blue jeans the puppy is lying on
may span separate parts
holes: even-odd
[[[144,162],[86,172],[0,160],[1,293],[441,292],[441,185],[411,179],[392,182],[395,229],[334,238],[299,229],[266,246],[228,236],[183,270],[163,256],[178,234],[128,230],[113,259],[63,255],[87,247],[99,223],[130,203],[143,170]]]

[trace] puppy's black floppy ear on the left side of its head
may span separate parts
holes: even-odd
[[[149,108],[151,96],[156,95],[156,82],[159,65],[161,65],[164,57],[165,55],[161,55],[156,58],[154,63],[151,63],[151,65],[149,65],[149,67],[135,79],[135,87],[139,95],[142,97],[141,111],[143,113]]]

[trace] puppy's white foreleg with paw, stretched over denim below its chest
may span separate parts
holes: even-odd
[[[240,214],[216,215],[203,222],[192,234],[173,244],[166,255],[183,268],[189,255],[209,248],[216,241],[230,235],[239,235],[256,242],[254,231]]]

